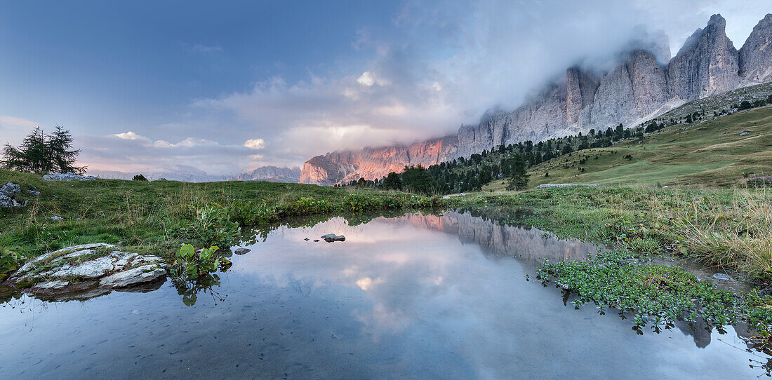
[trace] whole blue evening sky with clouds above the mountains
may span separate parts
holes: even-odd
[[[740,49],[772,3],[740,0],[0,0],[0,143],[61,125],[90,170],[210,174],[455,133],[636,25],[672,55],[710,15]]]

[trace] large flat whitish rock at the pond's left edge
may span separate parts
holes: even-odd
[[[96,296],[159,281],[166,277],[166,266],[161,257],[124,252],[110,244],[81,244],[42,254],[5,284],[48,298]]]

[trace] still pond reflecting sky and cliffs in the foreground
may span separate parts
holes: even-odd
[[[191,306],[171,281],[87,301],[14,298],[0,308],[0,378],[764,374],[767,357],[732,328],[637,335],[613,312],[564,304],[535,280],[537,265],[597,248],[508,218],[457,210],[279,227]],[[328,233],[346,240],[313,241]]]

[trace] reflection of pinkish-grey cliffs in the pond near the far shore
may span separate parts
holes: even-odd
[[[409,214],[405,220],[428,230],[441,230],[459,235],[462,243],[479,244],[483,251],[496,256],[516,256],[530,264],[540,264],[563,259],[584,260],[587,253],[598,252],[595,244],[581,240],[560,240],[545,236],[544,231],[523,225],[512,225],[522,210],[511,210],[512,215],[501,209],[454,210],[442,216]]]

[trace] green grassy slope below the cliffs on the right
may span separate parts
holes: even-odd
[[[750,132],[746,136],[740,133]],[[632,159],[625,159],[631,155]],[[586,159],[586,163],[579,163]],[[584,167],[582,173],[579,168]],[[550,177],[544,177],[549,172]],[[625,140],[561,156],[530,170],[530,186],[542,183],[736,187],[744,177],[772,173],[772,106],[706,123],[669,126],[643,142]],[[503,190],[496,180],[485,191]]]

